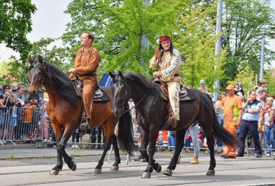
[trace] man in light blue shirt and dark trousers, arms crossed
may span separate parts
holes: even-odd
[[[240,129],[241,147],[239,149],[237,157],[243,157],[245,150],[245,138],[248,135],[249,130],[254,141],[254,148],[256,153],[255,156],[256,158],[261,158],[262,151],[258,134],[258,121],[259,111],[261,110],[261,102],[256,100],[256,91],[251,90],[249,92],[249,99],[245,102],[243,107],[245,108],[245,110]]]

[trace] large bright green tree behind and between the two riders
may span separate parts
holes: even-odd
[[[103,59],[100,70],[146,74],[157,37],[177,30],[177,10],[186,6],[186,2],[153,1],[146,5],[143,0],[74,0],[66,10],[72,22],[67,24],[67,33],[62,38],[79,47],[76,38],[91,30],[98,37],[95,45]],[[142,47],[142,36],[150,41],[149,51]]]

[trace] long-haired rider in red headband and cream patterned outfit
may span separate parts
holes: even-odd
[[[159,38],[159,46],[155,50],[155,56],[149,62],[149,68],[156,68],[157,66],[159,68],[157,72],[153,73],[153,76],[168,85],[169,101],[174,116],[170,116],[167,123],[175,128],[179,121],[179,90],[182,84],[179,76],[181,55],[179,50],[173,48],[170,37],[163,36]]]

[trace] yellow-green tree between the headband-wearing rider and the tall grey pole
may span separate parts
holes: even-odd
[[[190,6],[181,13],[181,32],[175,36],[175,45],[186,57],[181,66],[184,72],[184,84],[199,86],[199,80],[204,79],[212,92],[215,79],[223,78],[223,61],[225,50],[217,56],[214,54],[215,43],[221,36],[215,35],[215,19],[212,14],[216,6]],[[214,66],[216,65],[216,68]]]

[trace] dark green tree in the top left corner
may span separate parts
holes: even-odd
[[[31,43],[26,34],[32,31],[31,14],[36,6],[31,0],[0,0],[0,43],[28,58]]]

